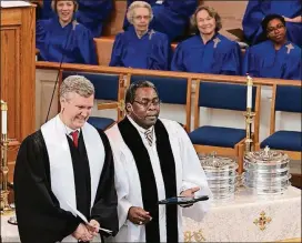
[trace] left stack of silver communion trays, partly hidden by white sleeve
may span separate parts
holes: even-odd
[[[214,200],[230,199],[234,196],[238,179],[238,164],[230,158],[199,155],[209,188]]]

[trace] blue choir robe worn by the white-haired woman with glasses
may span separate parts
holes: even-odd
[[[168,70],[171,47],[164,33],[149,30],[141,39],[133,27],[115,37],[110,67]]]

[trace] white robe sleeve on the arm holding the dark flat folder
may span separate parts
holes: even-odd
[[[183,215],[189,216],[195,221],[201,221],[210,209],[212,192],[208,185],[207,175],[200,164],[200,160],[193,148],[193,144],[184,129],[180,125],[178,128],[177,135],[180,143],[180,154],[182,156],[181,159],[183,172],[181,191],[199,186],[200,190],[195,192],[195,196],[208,195],[210,198],[208,201],[198,202],[191,207],[183,209]]]

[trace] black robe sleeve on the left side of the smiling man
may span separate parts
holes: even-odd
[[[41,131],[22,142],[13,180],[22,243],[53,243],[76,231],[79,220],[60,209],[51,191],[49,156]]]

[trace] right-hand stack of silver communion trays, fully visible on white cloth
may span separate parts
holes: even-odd
[[[259,195],[281,194],[290,183],[290,159],[283,152],[264,150],[244,156],[243,184]]]

